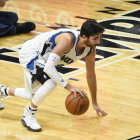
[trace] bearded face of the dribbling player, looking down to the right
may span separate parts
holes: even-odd
[[[100,37],[101,37],[101,33],[99,34],[96,34],[96,35],[92,35],[90,36],[87,41],[85,42],[85,44],[88,46],[88,47],[91,47],[91,48],[96,48],[96,46],[98,44],[100,44]]]

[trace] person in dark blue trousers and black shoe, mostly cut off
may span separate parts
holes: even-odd
[[[4,7],[8,0],[0,0],[0,7]],[[14,12],[0,11],[0,37],[33,31],[33,22],[17,23],[18,15]]]

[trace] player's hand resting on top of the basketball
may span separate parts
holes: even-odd
[[[74,87],[70,84],[67,84],[65,86],[65,89],[69,90],[70,92],[73,92],[75,97],[77,97],[77,95],[76,95],[77,92],[80,93],[82,97],[87,96],[87,93],[83,89],[81,89],[79,87]]]

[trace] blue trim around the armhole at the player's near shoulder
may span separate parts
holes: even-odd
[[[51,37],[51,39],[49,40],[49,42],[52,43],[52,46],[51,46],[51,49],[52,49],[52,50],[53,50],[54,47],[56,46],[56,44],[55,44],[55,38],[56,38],[56,36],[58,36],[58,35],[61,34],[61,33],[72,33],[73,36],[74,36],[74,43],[75,43],[76,36],[75,36],[75,34],[74,34],[73,32],[71,32],[71,31],[61,31],[61,32],[59,32],[59,33],[54,34],[54,35]]]

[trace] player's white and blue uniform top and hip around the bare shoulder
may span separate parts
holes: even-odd
[[[47,62],[50,52],[56,46],[55,44],[56,36],[65,32],[69,32],[74,35],[74,45],[69,52],[63,54],[57,66],[71,64],[81,58],[84,58],[85,56],[91,53],[92,49],[87,47],[85,48],[82,54],[78,54],[77,44],[80,37],[79,31],[71,29],[59,29],[43,33],[41,35],[36,36],[34,39],[25,42],[19,53],[21,64],[24,61],[23,62],[24,66],[33,73],[36,73],[35,65],[38,65],[39,67],[43,68],[45,66],[45,63]]]

